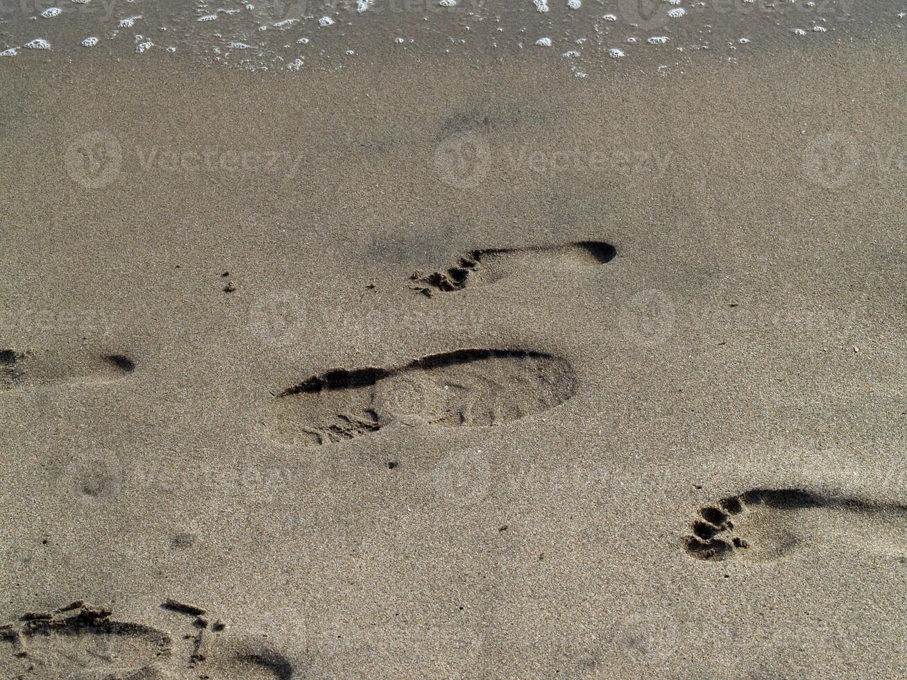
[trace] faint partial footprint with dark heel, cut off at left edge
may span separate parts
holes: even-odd
[[[0,350],[0,389],[56,383],[106,382],[132,373],[135,363],[125,355],[59,356],[37,350]]]

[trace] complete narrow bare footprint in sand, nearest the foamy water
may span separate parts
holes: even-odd
[[[610,262],[617,249],[604,241],[580,241],[566,246],[540,248],[493,248],[473,250],[444,271],[425,275],[415,272],[413,290],[433,296],[464,287],[488,286],[518,271],[537,271],[552,266],[596,267]]]

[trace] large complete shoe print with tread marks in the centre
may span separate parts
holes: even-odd
[[[395,369],[336,369],[280,393],[268,431],[280,442],[328,444],[390,423],[478,427],[509,423],[566,402],[577,378],[560,357],[464,349]]]

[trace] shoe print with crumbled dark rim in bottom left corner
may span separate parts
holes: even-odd
[[[114,621],[110,609],[73,602],[54,612],[24,615],[0,627],[0,676],[58,680],[162,680],[171,636]]]

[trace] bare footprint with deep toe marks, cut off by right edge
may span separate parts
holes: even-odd
[[[907,506],[756,489],[699,511],[684,539],[697,559],[778,559],[821,542],[839,549],[907,555]]]

